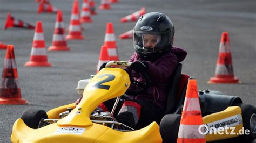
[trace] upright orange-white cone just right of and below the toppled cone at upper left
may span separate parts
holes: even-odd
[[[49,67],[51,63],[47,60],[43,26],[41,22],[37,22],[35,35],[33,38],[30,61],[26,62],[26,67]]]

